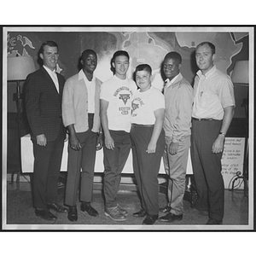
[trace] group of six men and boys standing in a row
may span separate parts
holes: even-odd
[[[33,203],[37,216],[57,217],[49,211],[68,212],[78,220],[80,210],[96,217],[91,206],[96,150],[103,148],[103,195],[105,215],[125,221],[128,212],[117,203],[121,172],[132,152],[133,172],[141,209],[132,216],[143,224],[172,223],[183,218],[186,168],[191,148],[197,201],[195,210],[209,217],[207,224],[222,224],[224,181],[221,157],[224,137],[234,115],[234,89],[230,77],[213,61],[215,46],[203,42],[195,49],[199,67],[192,87],[180,73],[182,57],[169,52],[162,70],[162,91],[152,86],[148,64],[136,67],[135,81],[127,71],[130,56],[113,54],[113,76],[102,83],[94,71],[97,55],[85,49],[81,69],[71,78],[56,73],[59,48],[54,41],[42,44],[43,67],[28,75],[24,85],[26,116],[31,128],[34,154]],[[61,156],[68,134],[65,205],[58,204],[57,184]],[[158,174],[163,157],[168,176],[166,207],[159,207]],[[159,212],[166,213],[159,218]]]

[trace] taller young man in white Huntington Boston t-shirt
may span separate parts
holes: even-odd
[[[127,79],[129,55],[116,51],[111,61],[114,75],[102,84],[101,119],[105,135],[104,181],[105,214],[113,220],[123,221],[128,212],[116,202],[121,172],[131,150],[131,101],[137,85]]]

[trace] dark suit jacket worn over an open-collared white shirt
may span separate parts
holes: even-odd
[[[59,132],[64,137],[61,101],[65,78],[59,73],[57,73],[57,77],[60,93],[56,90],[53,80],[44,67],[29,74],[26,78],[24,84],[25,107],[32,139],[44,134],[47,141],[54,141]]]

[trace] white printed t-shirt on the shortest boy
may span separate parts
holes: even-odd
[[[165,96],[160,90],[150,87],[141,92],[137,90],[132,101],[131,123],[137,125],[154,125],[154,111],[165,108]]]

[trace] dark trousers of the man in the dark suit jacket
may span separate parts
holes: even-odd
[[[34,207],[47,209],[47,203],[58,201],[58,181],[64,147],[64,135],[39,146],[32,140],[34,154],[33,202]]]

